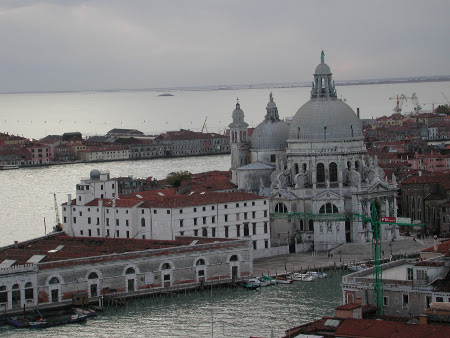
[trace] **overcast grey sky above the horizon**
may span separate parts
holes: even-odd
[[[450,75],[448,0],[0,0],[0,92]]]

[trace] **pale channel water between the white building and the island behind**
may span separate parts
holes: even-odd
[[[88,178],[92,169],[108,170],[111,177],[129,176],[162,179],[175,170],[198,173],[229,170],[230,156],[200,156],[176,159],[70,164],[42,168],[0,170],[0,246],[43,236],[56,224],[53,194],[58,205],[75,197],[75,185]],[[59,207],[61,215],[61,207]]]

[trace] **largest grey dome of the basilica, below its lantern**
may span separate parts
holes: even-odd
[[[289,127],[292,140],[362,138],[362,122],[348,104],[336,98],[312,98],[300,107]]]

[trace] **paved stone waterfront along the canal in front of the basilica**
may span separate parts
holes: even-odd
[[[433,246],[433,239],[413,239],[405,237],[394,242],[381,244],[383,258],[418,254],[421,250]],[[391,251],[392,250],[392,251]],[[284,274],[285,271],[341,268],[348,264],[358,264],[372,259],[371,243],[347,243],[329,252],[302,252],[289,255],[258,258],[253,261],[253,274]]]

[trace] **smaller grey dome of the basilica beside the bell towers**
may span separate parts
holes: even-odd
[[[264,120],[252,133],[251,149],[286,150],[289,127],[284,121]]]

